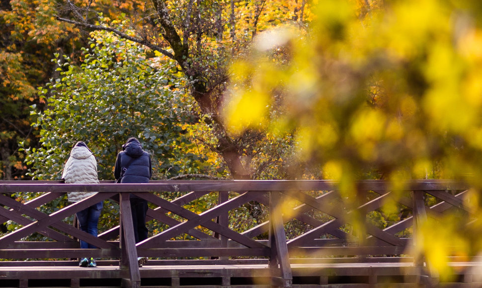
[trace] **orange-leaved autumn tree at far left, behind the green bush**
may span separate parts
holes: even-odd
[[[89,5],[88,0],[83,1]],[[104,15],[118,15],[143,9],[143,1],[90,1]],[[30,105],[42,109],[37,87],[59,76],[54,53],[62,63],[64,55],[79,63],[80,47],[87,37],[79,29],[62,23],[53,15],[62,16],[58,1],[0,1],[0,179],[25,177],[27,166],[18,143],[38,147],[37,130],[30,124]]]

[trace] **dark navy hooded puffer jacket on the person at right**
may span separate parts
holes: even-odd
[[[129,138],[117,154],[114,177],[119,179],[122,168],[126,168],[121,183],[149,183],[152,177],[151,155],[142,149],[136,138]]]

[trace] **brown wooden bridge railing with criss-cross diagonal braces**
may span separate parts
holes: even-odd
[[[0,181],[0,222],[11,220],[21,227],[0,237],[0,258],[66,259],[90,257],[118,261],[126,271],[125,286],[139,287],[137,257],[155,259],[156,265],[196,263],[269,263],[277,271],[272,275],[278,286],[290,287],[291,263],[321,261],[344,257],[353,261],[370,261],[377,256],[410,256],[413,233],[427,216],[439,217],[457,209],[470,213],[463,198],[467,183],[449,180],[414,180],[402,183],[403,192],[393,197],[389,183],[366,180],[355,183],[353,193],[340,195],[337,181],[152,181],[149,184],[62,184],[60,181]],[[70,191],[99,193],[50,214],[41,212],[43,205],[64,197]],[[38,192],[39,196],[20,203],[11,193]],[[160,192],[183,192],[171,201]],[[213,194],[214,193],[214,194]],[[148,221],[167,227],[143,242],[135,243],[130,194],[150,203]],[[186,205],[205,195],[213,195],[212,208],[196,212]],[[424,198],[433,197],[427,207]],[[348,199],[348,198],[353,199]],[[399,221],[380,227],[370,215],[380,211],[390,199],[406,212]],[[119,219],[98,237],[80,231],[66,218],[100,201],[119,203]],[[235,230],[229,214],[250,203],[266,213],[266,221],[244,231]],[[187,207],[187,208],[186,208]],[[245,215],[250,217],[250,215]],[[117,221],[117,222],[116,222]],[[252,221],[254,223],[254,221]],[[359,225],[363,224],[363,225]],[[411,228],[411,229],[409,229]],[[410,232],[406,232],[410,231]],[[39,233],[48,241],[25,241]],[[183,240],[180,235],[190,235]],[[287,235],[289,237],[287,237]],[[80,249],[78,239],[99,249]],[[190,259],[190,260],[186,260]],[[413,259],[422,261],[423,259]],[[60,263],[61,261],[59,261]],[[151,262],[151,261],[150,261]],[[2,262],[4,265],[5,263]],[[29,261],[23,262],[29,265]],[[18,265],[18,264],[17,264]],[[52,264],[54,265],[54,264]],[[423,265],[423,264],[420,264]],[[436,278],[432,271],[430,277]]]

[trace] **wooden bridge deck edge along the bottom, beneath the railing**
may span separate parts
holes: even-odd
[[[271,287],[276,269],[268,264],[149,265],[140,268],[141,287]],[[69,266],[67,266],[69,265]],[[96,268],[62,266],[0,267],[0,287],[121,287],[128,271],[113,261],[99,261]],[[455,272],[437,287],[481,287],[482,262],[450,263]],[[292,264],[293,287],[417,287],[420,269],[413,262]],[[386,286],[390,283],[390,286]]]

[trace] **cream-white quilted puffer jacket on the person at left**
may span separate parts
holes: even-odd
[[[97,178],[97,162],[92,152],[84,146],[75,146],[65,163],[62,179],[65,183],[99,183]],[[69,202],[75,203],[97,192],[69,192]]]

